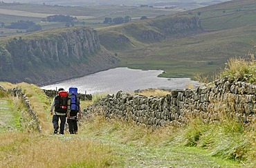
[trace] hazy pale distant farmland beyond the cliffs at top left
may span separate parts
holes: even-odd
[[[42,29],[48,28],[63,28],[66,23],[41,23],[43,18],[49,15],[70,15],[77,17],[78,22],[75,25],[91,26],[99,28],[106,26],[103,23],[105,17],[131,17],[132,20],[138,20],[142,16],[157,17],[159,15],[171,15],[176,12],[181,12],[182,9],[164,9],[164,8],[149,8],[138,6],[47,6],[26,3],[0,3],[0,22],[5,26],[9,26],[12,22],[25,20],[34,21],[42,26]],[[6,30],[0,28],[3,32],[0,36],[15,35],[7,33]],[[19,30],[21,31],[21,30]]]

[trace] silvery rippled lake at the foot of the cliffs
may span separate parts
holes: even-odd
[[[163,71],[134,70],[129,68],[113,68],[100,73],[86,75],[73,80],[66,80],[57,84],[42,86],[44,89],[68,88],[75,86],[78,92],[87,94],[95,93],[117,93],[118,91],[131,92],[137,89],[145,88],[169,88],[183,89],[188,84],[198,86],[199,82],[190,80],[190,78],[164,78],[157,77]]]

